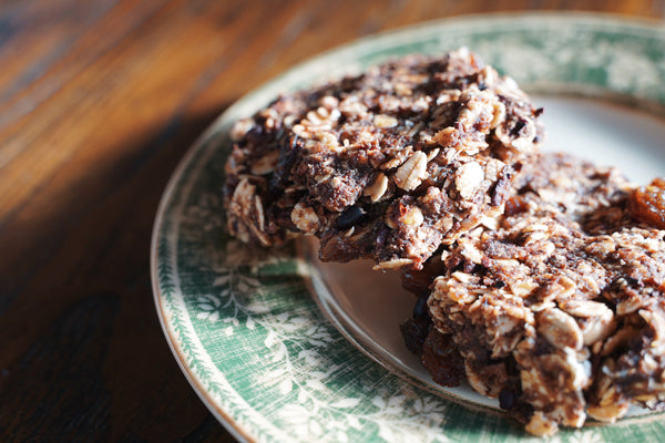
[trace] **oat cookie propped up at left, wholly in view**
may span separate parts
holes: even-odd
[[[232,131],[229,231],[265,246],[316,236],[326,261],[418,269],[503,213],[541,111],[466,49],[282,96]]]

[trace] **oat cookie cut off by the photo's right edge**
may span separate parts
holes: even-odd
[[[436,380],[466,378],[536,435],[663,409],[663,182],[636,188],[562,155],[529,171],[495,229],[428,269],[429,311],[402,324],[410,348]],[[456,358],[432,359],[444,352]]]

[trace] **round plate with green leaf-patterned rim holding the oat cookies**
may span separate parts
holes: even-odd
[[[429,380],[399,338],[412,299],[395,276],[377,279],[362,262],[318,264],[307,244],[249,247],[225,228],[221,190],[234,121],[280,92],[461,45],[545,104],[551,146],[622,165],[636,181],[663,175],[665,29],[655,23],[585,14],[430,22],[325,53],[245,96],[174,173],[151,250],[156,309],[173,353],[238,440],[541,441],[469,389]],[[553,440],[648,441],[664,432],[665,415],[636,410]]]

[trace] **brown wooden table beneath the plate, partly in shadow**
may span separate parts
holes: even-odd
[[[178,159],[313,54],[528,9],[663,19],[665,1],[0,1],[0,441],[233,442],[153,306],[152,224]]]

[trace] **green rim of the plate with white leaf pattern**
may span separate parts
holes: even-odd
[[[228,238],[223,165],[233,121],[277,93],[408,52],[468,45],[531,90],[615,93],[665,103],[665,30],[585,16],[432,23],[325,54],[232,106],[184,161],[155,227],[156,303],[171,344],[208,408],[258,442],[540,442],[499,414],[452,402],[354,348],[308,293],[293,247]],[[550,442],[601,443],[665,432],[663,420],[564,430]]]

